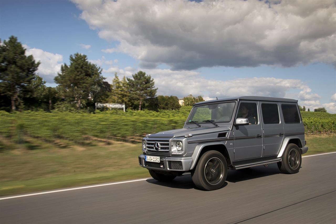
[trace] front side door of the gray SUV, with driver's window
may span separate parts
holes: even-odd
[[[254,101],[242,101],[239,104],[235,119],[248,118],[249,125],[241,125],[238,130],[233,128],[235,161],[262,155],[262,128],[258,107],[258,103]]]

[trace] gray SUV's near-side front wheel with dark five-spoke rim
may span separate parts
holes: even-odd
[[[192,172],[192,180],[196,187],[208,191],[223,187],[226,176],[226,159],[214,150],[205,152]]]

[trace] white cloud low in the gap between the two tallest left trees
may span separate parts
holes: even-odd
[[[60,71],[63,61],[63,56],[60,54],[50,53],[37,48],[29,48],[27,45],[23,45],[26,48],[26,55],[33,55],[35,61],[40,61],[41,64],[38,67],[37,73],[48,83],[54,82],[54,77]]]

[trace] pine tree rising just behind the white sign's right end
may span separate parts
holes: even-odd
[[[134,102],[139,103],[139,110],[141,110],[141,106],[146,100],[155,97],[157,88],[154,88],[154,80],[145,72],[139,71],[132,77],[133,79],[127,78],[130,97]]]

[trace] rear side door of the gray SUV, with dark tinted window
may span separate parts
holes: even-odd
[[[264,150],[263,156],[276,155],[284,138],[278,102],[259,102],[261,108]]]

